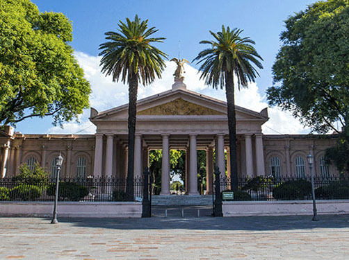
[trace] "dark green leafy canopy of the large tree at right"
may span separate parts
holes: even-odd
[[[289,110],[315,132],[349,122],[349,1],[319,1],[285,21],[273,65],[270,105]]]

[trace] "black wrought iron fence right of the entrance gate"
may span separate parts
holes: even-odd
[[[316,200],[349,199],[349,177],[314,177]],[[220,191],[231,191],[232,180],[220,179]],[[311,176],[241,177],[233,200],[311,200]]]

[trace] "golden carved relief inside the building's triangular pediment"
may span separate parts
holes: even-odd
[[[156,107],[148,108],[137,113],[138,115],[152,115],[152,116],[202,116],[202,115],[224,115],[224,113],[212,110],[211,108],[203,107],[185,101],[183,98],[177,98],[174,101],[157,105]]]

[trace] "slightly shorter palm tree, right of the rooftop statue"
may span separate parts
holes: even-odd
[[[210,44],[209,49],[201,51],[193,60],[201,63],[200,78],[204,78],[206,85],[213,88],[223,89],[227,96],[228,127],[229,127],[229,148],[230,148],[230,176],[232,177],[232,188],[238,189],[238,170],[236,163],[236,116],[234,100],[234,76],[237,79],[238,89],[247,87],[248,82],[254,82],[259,76],[257,70],[252,66],[263,69],[259,60],[263,60],[254,49],[254,41],[250,37],[241,37],[243,30],[234,28],[230,31],[222,26],[222,31],[211,35],[215,40],[201,41],[200,44]],[[222,169],[220,170],[222,171]]]

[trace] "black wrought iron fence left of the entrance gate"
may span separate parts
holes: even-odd
[[[0,179],[0,200],[54,201],[56,179]],[[133,199],[143,198],[143,177],[133,180]],[[127,201],[127,180],[113,177],[60,178],[60,201]]]

